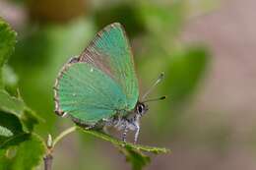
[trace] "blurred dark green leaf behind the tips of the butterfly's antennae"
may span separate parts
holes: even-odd
[[[205,73],[209,54],[203,47],[188,47],[173,54],[166,70],[166,91],[171,107],[178,107],[193,92]]]

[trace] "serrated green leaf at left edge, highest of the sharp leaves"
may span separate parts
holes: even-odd
[[[2,83],[2,67],[11,53],[14,51],[16,43],[16,32],[0,18],[0,86]]]

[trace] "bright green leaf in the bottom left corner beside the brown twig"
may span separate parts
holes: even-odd
[[[27,141],[19,145],[0,149],[0,170],[31,170],[45,153],[43,141],[34,134],[27,134]]]

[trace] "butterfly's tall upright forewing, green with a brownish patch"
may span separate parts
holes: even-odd
[[[126,95],[128,110],[139,97],[133,54],[124,28],[114,23],[99,31],[79,60],[89,63],[112,78]]]

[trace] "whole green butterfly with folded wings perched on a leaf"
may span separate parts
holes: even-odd
[[[139,85],[133,54],[124,28],[119,23],[106,26],[82,54],[71,58],[61,69],[55,85],[55,113],[69,115],[79,126],[122,130],[126,142],[129,130],[138,141],[140,118],[148,111],[144,100],[158,81],[139,100]]]

